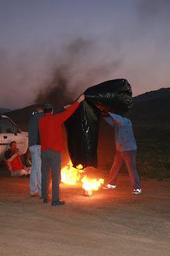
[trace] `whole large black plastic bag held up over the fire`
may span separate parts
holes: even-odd
[[[65,122],[69,156],[76,168],[97,168],[97,144],[101,110],[120,114],[132,107],[131,85],[126,79],[106,81],[88,88],[85,100]]]

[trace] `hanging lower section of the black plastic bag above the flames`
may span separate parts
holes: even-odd
[[[65,122],[67,147],[73,167],[79,164],[83,168],[97,168],[97,143],[100,110],[83,100]]]

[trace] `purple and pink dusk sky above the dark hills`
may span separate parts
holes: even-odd
[[[170,87],[169,0],[0,3],[0,108],[25,108],[53,87],[75,100],[118,78],[133,97]]]

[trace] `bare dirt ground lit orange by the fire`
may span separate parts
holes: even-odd
[[[84,196],[82,183],[60,184],[66,205],[29,195],[29,179],[0,166],[1,256],[169,255],[169,180],[141,179],[132,195],[128,174],[117,188]],[[94,173],[108,179],[108,173]]]

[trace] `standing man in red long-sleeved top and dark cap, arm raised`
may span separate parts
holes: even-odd
[[[84,99],[85,95],[82,94],[73,105],[56,115],[53,115],[51,104],[45,104],[43,108],[44,116],[39,119],[38,127],[41,141],[41,192],[44,204],[47,204],[50,200],[50,168],[52,169],[52,205],[65,204],[59,198],[60,150],[64,148],[61,125],[73,114]]]

